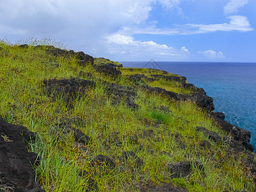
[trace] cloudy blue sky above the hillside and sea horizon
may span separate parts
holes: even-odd
[[[113,61],[256,62],[255,0],[0,0],[0,39]]]

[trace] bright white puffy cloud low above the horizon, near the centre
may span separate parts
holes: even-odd
[[[134,40],[132,36],[125,35],[110,35],[106,37],[108,42],[109,52],[113,54],[126,55],[126,58],[136,59],[144,58],[145,60],[152,58],[186,58],[189,56],[189,51],[186,47],[181,47],[181,49],[174,49],[173,47],[168,47],[167,45],[157,44],[153,41],[141,42]]]

